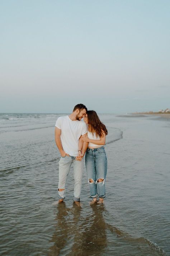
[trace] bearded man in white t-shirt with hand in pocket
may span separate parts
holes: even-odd
[[[83,143],[81,135],[86,134],[87,126],[81,119],[85,116],[87,108],[83,104],[77,104],[69,116],[58,117],[55,127],[55,141],[60,151],[59,161],[59,201],[65,198],[66,179],[70,171],[71,164],[74,168],[74,202],[80,202],[81,181],[83,160],[88,143]]]

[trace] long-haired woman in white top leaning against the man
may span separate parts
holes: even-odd
[[[93,198],[92,203],[97,201],[98,196],[99,203],[103,203],[107,174],[107,157],[104,144],[108,131],[94,110],[87,111],[84,121],[88,125],[88,134],[81,138],[84,142],[89,143],[85,163],[89,178],[90,196]]]

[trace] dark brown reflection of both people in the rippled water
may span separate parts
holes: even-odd
[[[88,256],[103,255],[107,247],[107,224],[103,214],[104,205],[91,205],[83,209],[73,203],[58,204],[56,231],[50,242],[53,246],[48,255]]]

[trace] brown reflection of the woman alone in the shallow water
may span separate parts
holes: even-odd
[[[79,221],[79,213],[75,209],[75,236],[69,256],[103,255],[107,247],[106,223],[103,218],[104,205],[91,205],[92,212]],[[77,221],[79,221],[77,223]],[[77,224],[77,225],[76,225]]]

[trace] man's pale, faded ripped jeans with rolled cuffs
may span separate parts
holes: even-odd
[[[82,170],[83,170],[83,161],[77,161],[76,157],[65,156],[61,157],[59,161],[59,181],[58,189],[64,189],[62,191],[58,190],[60,199],[65,198],[66,194],[66,180],[70,171],[71,164],[73,164],[74,169],[74,201],[80,201],[80,192],[81,192],[81,183],[82,183]]]

